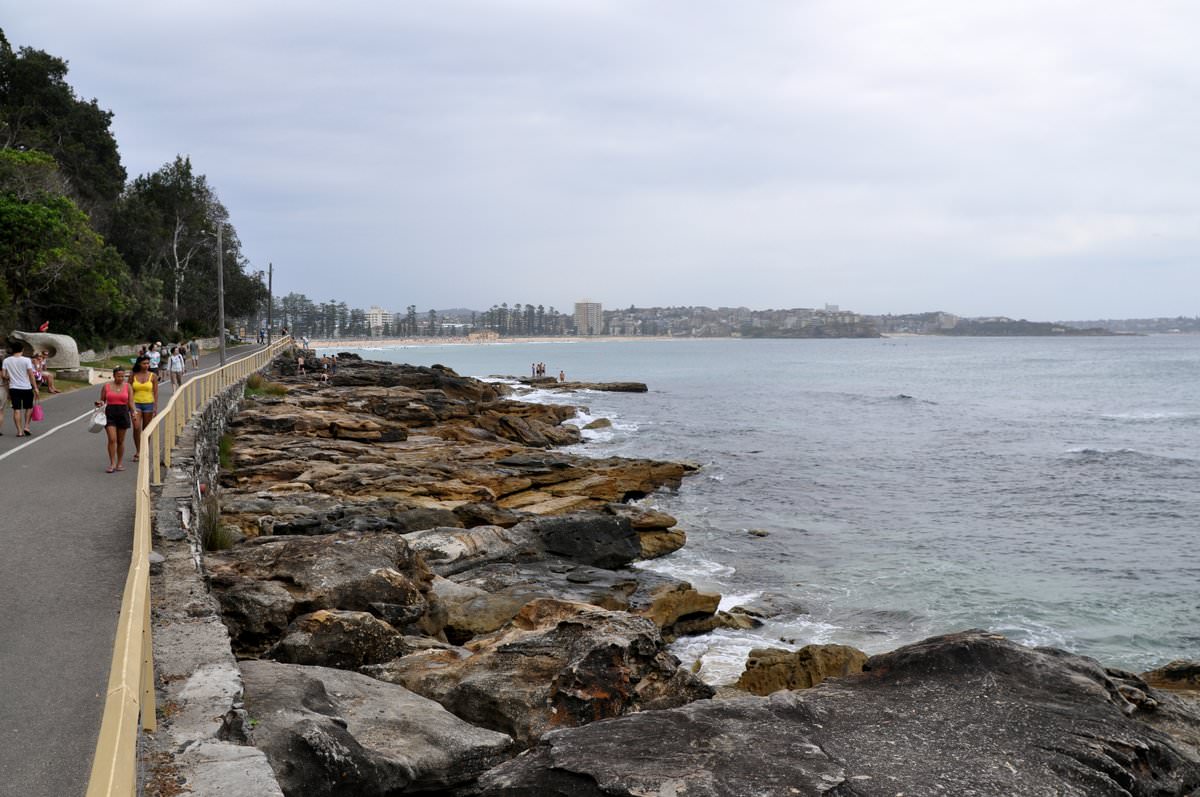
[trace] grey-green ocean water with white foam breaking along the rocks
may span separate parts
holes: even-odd
[[[676,643],[709,682],[736,679],[752,647],[876,653],[967,628],[1135,671],[1200,658],[1200,337],[359,353],[479,377],[544,361],[571,379],[648,383],[529,398],[614,423],[581,451],[703,466],[646,499],[689,538],[644,567],[720,592],[722,607],[779,610],[755,631]]]

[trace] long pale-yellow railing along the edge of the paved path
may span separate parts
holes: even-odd
[[[88,797],[137,795],[138,720],[144,731],[154,731],[156,726],[154,651],[150,643],[150,486],[162,484],[162,467],[170,466],[175,439],[196,411],[220,391],[266,366],[289,346],[292,340],[284,337],[250,356],[192,377],[174,391],[162,412],[142,432],[133,557],[125,577],[104,718],[96,741]]]

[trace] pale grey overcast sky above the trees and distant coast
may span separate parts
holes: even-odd
[[[1200,5],[0,0],[131,178],[388,310],[1200,313]]]

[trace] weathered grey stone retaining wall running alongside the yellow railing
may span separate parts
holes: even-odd
[[[143,735],[142,772],[193,797],[282,797],[270,765],[244,738],[241,672],[203,575],[200,485],[216,481],[218,442],[238,412],[244,383],[211,398],[176,441],[154,499],[151,568],[158,730]],[[161,557],[161,561],[160,561]],[[174,793],[174,792],[172,792]]]

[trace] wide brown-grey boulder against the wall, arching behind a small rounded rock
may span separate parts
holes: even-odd
[[[398,631],[436,635],[444,615],[433,574],[396,534],[260,537],[205,559],[234,646],[258,653],[298,616],[370,612]]]

